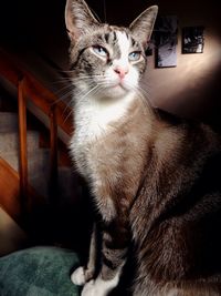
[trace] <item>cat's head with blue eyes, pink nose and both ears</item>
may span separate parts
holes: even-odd
[[[98,22],[83,0],[67,0],[73,83],[83,95],[112,99],[138,89],[157,11],[150,7],[128,28],[119,28]]]

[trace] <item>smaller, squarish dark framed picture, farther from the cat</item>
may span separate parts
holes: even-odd
[[[204,47],[204,27],[182,28],[182,53],[202,53]]]

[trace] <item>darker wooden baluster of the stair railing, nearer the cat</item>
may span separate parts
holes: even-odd
[[[50,111],[50,197],[52,205],[57,198],[57,122],[56,106],[53,104]]]

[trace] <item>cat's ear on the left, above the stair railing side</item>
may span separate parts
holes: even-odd
[[[99,24],[84,0],[66,0],[65,23],[69,37],[74,43],[82,34]]]

